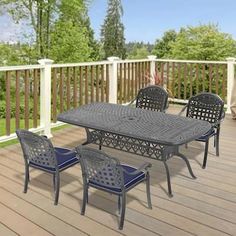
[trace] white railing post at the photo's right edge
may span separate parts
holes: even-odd
[[[230,103],[232,97],[232,89],[234,84],[234,57],[226,58],[227,60],[227,110],[226,113],[230,114]]]

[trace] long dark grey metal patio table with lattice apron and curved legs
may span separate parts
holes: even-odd
[[[84,127],[87,141],[162,161],[172,196],[167,160],[182,158],[190,175],[196,178],[179,146],[192,141],[212,127],[210,123],[162,112],[109,103],[92,103],[58,116],[59,121]]]

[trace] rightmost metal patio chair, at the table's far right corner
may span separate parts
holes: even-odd
[[[219,137],[220,124],[224,119],[224,101],[216,94],[203,92],[189,99],[187,105],[181,110],[182,114],[185,110],[186,116],[190,118],[208,121],[212,124],[212,129],[206,132],[197,141],[205,143],[204,159],[202,168],[206,168],[209,139],[214,137],[214,146],[216,148],[216,156],[219,156]]]

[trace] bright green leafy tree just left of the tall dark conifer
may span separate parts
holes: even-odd
[[[59,9],[59,18],[52,27],[50,58],[56,62],[90,60],[92,36],[84,1],[61,0]]]

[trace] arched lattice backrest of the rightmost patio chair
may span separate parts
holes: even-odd
[[[206,120],[212,124],[222,118],[224,101],[213,93],[200,93],[188,101],[187,117]]]

